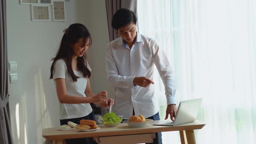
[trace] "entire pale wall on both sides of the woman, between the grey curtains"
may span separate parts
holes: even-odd
[[[19,1],[7,0],[8,61],[18,62],[18,71],[10,73],[19,75],[19,83],[9,84],[13,141],[41,144],[42,128],[59,126],[59,101],[49,69],[65,27],[78,22],[88,27],[93,39],[87,54],[92,91],[106,90],[108,97],[114,98],[114,88],[105,74],[105,46],[109,42],[105,0],[66,2],[66,22],[31,21],[30,6]]]

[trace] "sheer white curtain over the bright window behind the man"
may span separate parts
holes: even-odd
[[[198,144],[256,143],[255,0],[138,0],[138,31],[166,52],[177,102],[203,98],[197,119],[207,125],[195,132]],[[163,143],[180,144],[179,134],[164,132]]]

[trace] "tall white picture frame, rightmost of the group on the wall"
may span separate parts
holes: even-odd
[[[52,18],[53,21],[66,21],[65,0],[53,0]]]

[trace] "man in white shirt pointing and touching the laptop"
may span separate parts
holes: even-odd
[[[115,114],[129,119],[131,115],[160,120],[158,95],[152,81],[156,65],[164,83],[167,98],[165,119],[174,121],[177,108],[174,102],[174,72],[165,53],[154,39],[137,33],[137,18],[128,9],[118,10],[112,19],[112,27],[119,38],[106,47],[106,70],[108,82],[116,87]],[[161,133],[154,144],[161,144]]]

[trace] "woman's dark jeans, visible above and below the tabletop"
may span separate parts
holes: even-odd
[[[85,116],[85,117],[81,117],[81,118],[70,118],[70,119],[63,119],[60,120],[60,124],[68,124],[68,121],[72,121],[75,124],[80,124],[80,120],[85,119],[85,120],[93,120],[95,121],[95,117],[94,117],[94,113],[93,111]],[[89,138],[75,138],[75,139],[66,139],[65,140],[67,144],[97,144],[95,141],[92,140],[92,137]]]

